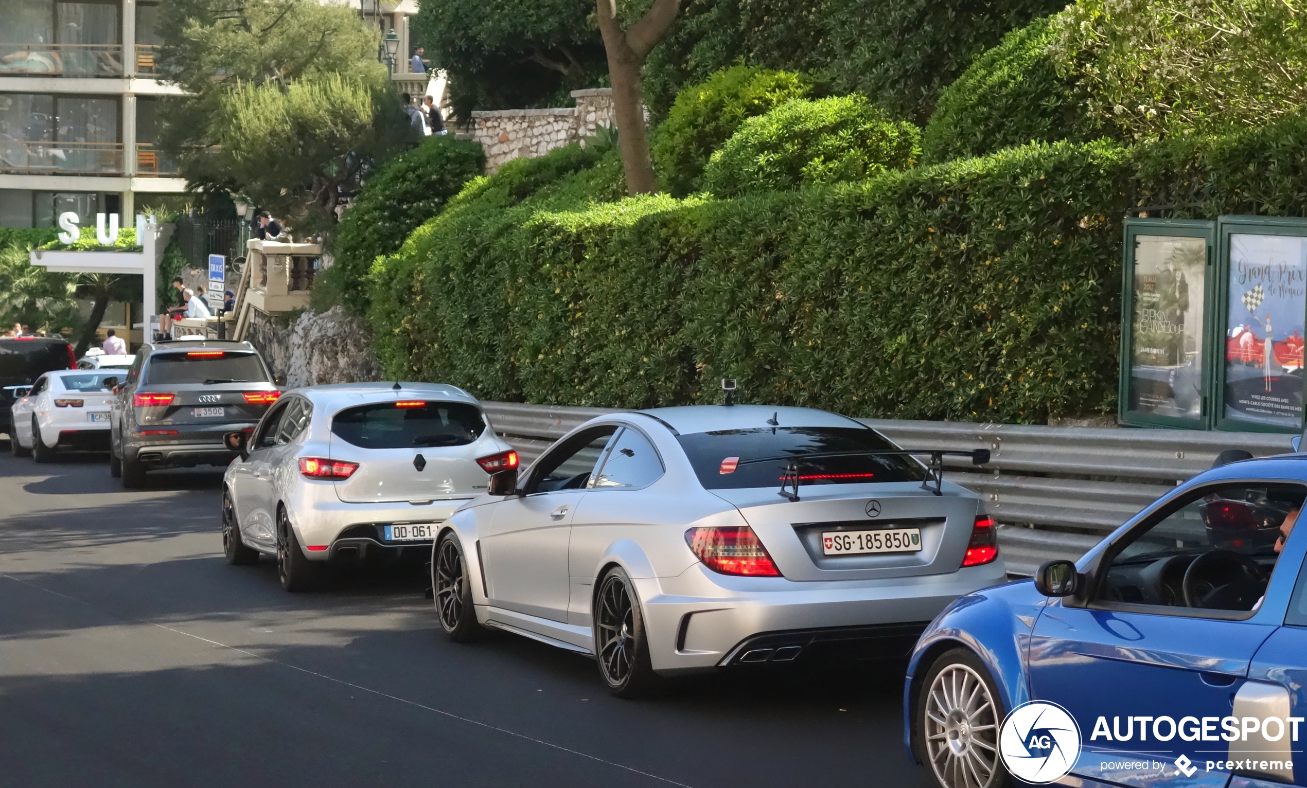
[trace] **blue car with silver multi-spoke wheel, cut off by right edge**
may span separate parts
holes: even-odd
[[[1307,785],[1304,498],[1307,455],[1223,465],[958,599],[912,652],[912,758],[944,788]]]

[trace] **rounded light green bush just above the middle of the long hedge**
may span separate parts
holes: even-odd
[[[921,156],[921,132],[890,120],[863,95],[793,99],[749,118],[712,154],[706,191],[737,197],[754,191],[867,180],[904,170]]]

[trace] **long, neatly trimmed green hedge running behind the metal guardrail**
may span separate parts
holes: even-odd
[[[1294,119],[1235,139],[1031,144],[860,184],[612,204],[588,197],[596,170],[552,166],[544,188],[523,187],[541,161],[477,182],[379,263],[374,303],[389,307],[372,323],[388,375],[495,400],[708,402],[735,376],[742,401],[857,416],[1110,413],[1120,217],[1162,195],[1206,217],[1299,214],[1304,144]]]

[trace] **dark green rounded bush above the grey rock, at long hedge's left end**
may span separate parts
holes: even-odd
[[[387,162],[367,179],[336,226],[331,239],[332,268],[323,277],[316,298],[344,302],[356,312],[366,312],[367,293],[362,282],[372,260],[400,248],[409,233],[439,213],[464,183],[482,171],[481,145],[448,135],[427,137]]]

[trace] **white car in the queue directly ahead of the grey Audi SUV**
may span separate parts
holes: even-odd
[[[17,456],[48,463],[60,451],[108,451],[112,388],[125,370],[55,370],[31,384],[9,410]]]

